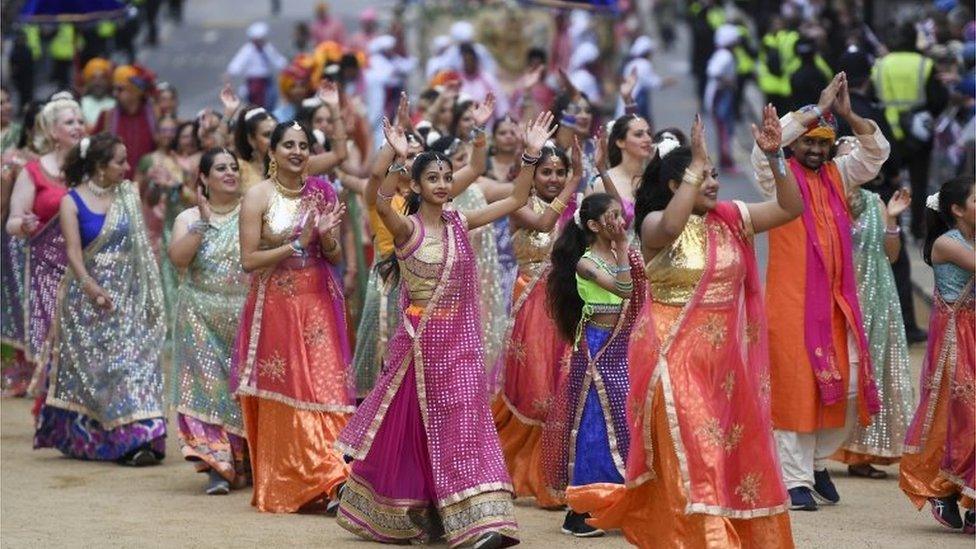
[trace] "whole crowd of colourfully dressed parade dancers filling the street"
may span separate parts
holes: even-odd
[[[175,426],[206,493],[382,543],[511,546],[525,497],[577,537],[792,547],[789,510],[841,501],[828,460],[900,462],[972,535],[976,24],[949,10],[885,45],[843,7],[694,3],[687,128],[654,124],[655,40],[608,52],[583,11],[513,77],[467,21],[422,67],[323,3],[292,59],[252,24],[191,120],[101,57],[17,115],[4,88],[4,394],[35,448],[149,466]],[[764,199],[719,199],[750,119]]]

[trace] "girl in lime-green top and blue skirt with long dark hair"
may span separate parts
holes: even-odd
[[[623,482],[630,441],[623,406],[627,340],[644,297],[640,254],[628,241],[620,202],[594,193],[553,244],[547,302],[573,348],[542,428],[546,489],[557,499],[568,486]],[[562,532],[603,535],[586,518],[570,509]]]

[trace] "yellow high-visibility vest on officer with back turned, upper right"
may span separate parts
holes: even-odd
[[[895,139],[905,138],[901,115],[925,104],[925,84],[933,65],[928,57],[908,51],[889,53],[875,61],[871,81]]]

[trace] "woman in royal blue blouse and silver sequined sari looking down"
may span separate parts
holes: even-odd
[[[65,158],[59,222],[70,269],[51,327],[49,385],[34,448],[123,465],[166,453],[163,375],[166,335],[159,268],[142,222],[128,154],[107,132],[82,139]],[[50,361],[50,362],[48,362]]]

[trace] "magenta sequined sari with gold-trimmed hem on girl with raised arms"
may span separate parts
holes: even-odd
[[[384,371],[339,437],[337,447],[358,460],[339,524],[388,543],[443,535],[456,547],[489,531],[514,541],[513,489],[488,408],[474,254],[461,215],[443,219],[437,289],[422,311],[409,304],[409,288],[401,291],[404,320]],[[398,250],[401,263],[413,253]]]

